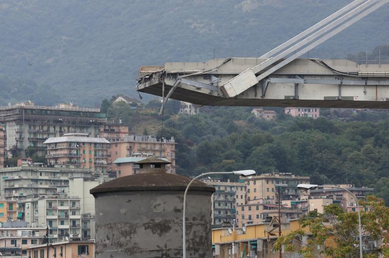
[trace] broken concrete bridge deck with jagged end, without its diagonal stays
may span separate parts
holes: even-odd
[[[379,61],[357,65],[296,59],[237,96],[226,97],[226,82],[263,61],[232,58],[141,67],[137,90],[157,96],[163,91],[165,97],[210,106],[389,108],[389,64]]]

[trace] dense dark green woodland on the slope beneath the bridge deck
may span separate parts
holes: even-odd
[[[180,174],[242,169],[290,172],[309,175],[315,184],[374,187],[389,204],[386,111],[339,118],[336,112],[322,109],[326,117],[313,120],[292,118],[282,108],[273,108],[277,118],[266,121],[255,118],[252,107],[202,107],[199,115],[188,116],[175,115],[179,105],[170,101],[162,118],[158,116],[158,101],[142,111],[109,101],[106,104],[108,116],[124,118],[132,132],[174,136]],[[143,127],[142,120],[154,121],[154,129]]]

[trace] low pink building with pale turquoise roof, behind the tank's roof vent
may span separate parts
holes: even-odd
[[[113,164],[116,165],[115,171],[116,171],[116,177],[123,177],[127,175],[135,175],[138,173],[140,166],[139,164],[135,164],[143,159],[146,159],[148,156],[143,157],[121,157],[116,159]],[[161,158],[164,161],[170,162],[167,158]],[[172,173],[169,166],[166,164],[166,172]]]

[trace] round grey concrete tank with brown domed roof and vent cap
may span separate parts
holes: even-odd
[[[139,173],[90,190],[96,206],[96,258],[182,258],[182,207],[190,178],[166,173],[168,161],[147,158]],[[212,257],[211,195],[191,185],[186,206],[188,258]]]

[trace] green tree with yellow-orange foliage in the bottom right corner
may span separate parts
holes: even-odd
[[[363,235],[370,240],[389,241],[389,207],[382,199],[368,196],[360,202],[365,208],[361,211]],[[337,204],[324,206],[324,213],[311,211],[300,219],[301,229],[280,237],[274,249],[285,246],[287,252],[299,252],[304,258],[314,258],[317,254],[325,254],[333,258],[359,257],[359,233],[357,212],[345,212]],[[300,250],[293,245],[293,240],[306,239],[306,245]],[[299,241],[298,240],[298,241]],[[317,250],[317,246],[322,246]],[[375,254],[366,257],[377,257],[382,253],[389,255],[389,246],[384,244]]]

